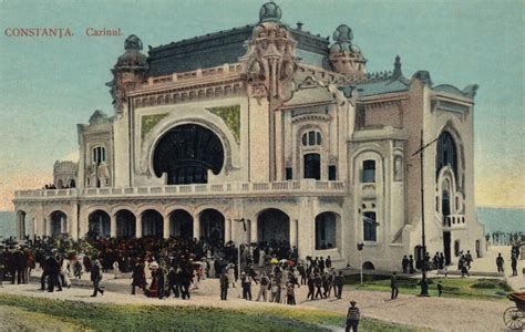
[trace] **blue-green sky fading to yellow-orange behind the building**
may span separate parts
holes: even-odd
[[[257,23],[255,0],[0,0],[0,210],[17,189],[52,181],[58,159],[74,158],[76,124],[94,110],[112,115],[104,83],[128,34],[166,44]],[[480,85],[475,97],[476,205],[525,206],[524,1],[281,0],[285,23],[322,37],[339,24],[368,59],[368,71],[393,69],[401,56],[411,77],[426,70],[435,85]],[[66,38],[13,38],[12,28],[69,28]],[[123,37],[85,29],[121,28]]]

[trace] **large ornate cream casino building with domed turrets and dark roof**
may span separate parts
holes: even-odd
[[[361,37],[364,38],[364,37]],[[430,252],[484,251],[474,208],[476,85],[426,71],[367,73],[352,30],[253,25],[142,52],[130,35],[107,83],[114,115],[78,126],[80,160],[58,189],[17,191],[19,237],[68,234],[289,241],[301,258],[398,269]],[[421,137],[422,136],[422,137]],[[419,155],[424,144],[423,189]],[[63,187],[66,188],[63,188]]]

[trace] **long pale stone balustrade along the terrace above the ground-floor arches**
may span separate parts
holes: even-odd
[[[45,197],[119,197],[119,196],[214,196],[214,195],[329,195],[343,196],[343,181],[290,180],[275,183],[222,183],[155,187],[109,187],[82,189],[38,189],[14,193],[16,200]]]

